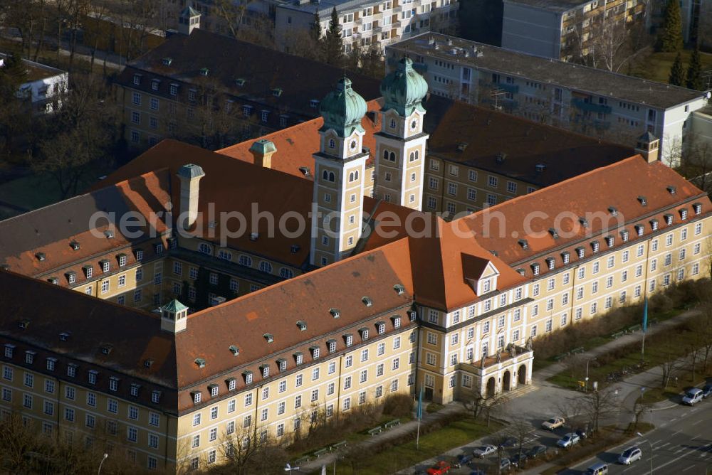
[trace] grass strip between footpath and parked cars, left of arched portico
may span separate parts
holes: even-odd
[[[420,447],[416,449],[415,441],[398,445],[380,452],[368,454],[357,460],[353,467],[359,474],[392,474],[395,471],[417,464],[419,461],[429,459],[437,454],[447,452],[453,447],[472,442],[487,434],[496,432],[501,425],[491,422],[487,427],[486,422],[463,417],[462,420],[453,422],[443,429],[430,432],[420,438]],[[331,469],[329,470],[331,473]],[[352,474],[352,465],[340,461],[337,464],[337,474]]]

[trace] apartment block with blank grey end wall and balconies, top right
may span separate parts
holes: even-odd
[[[591,53],[596,38],[645,22],[643,0],[505,0],[502,47],[570,60]]]

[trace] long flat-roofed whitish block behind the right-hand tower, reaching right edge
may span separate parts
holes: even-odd
[[[651,132],[661,159],[679,164],[690,115],[708,95],[559,60],[430,33],[387,48],[387,70],[404,55],[431,93],[634,145]]]

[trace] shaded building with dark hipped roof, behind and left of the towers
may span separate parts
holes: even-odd
[[[290,127],[318,117],[320,100],[342,75],[199,24],[185,26],[189,34],[130,61],[116,80],[132,148],[176,138],[216,149]],[[378,97],[376,80],[353,81],[368,99]]]

